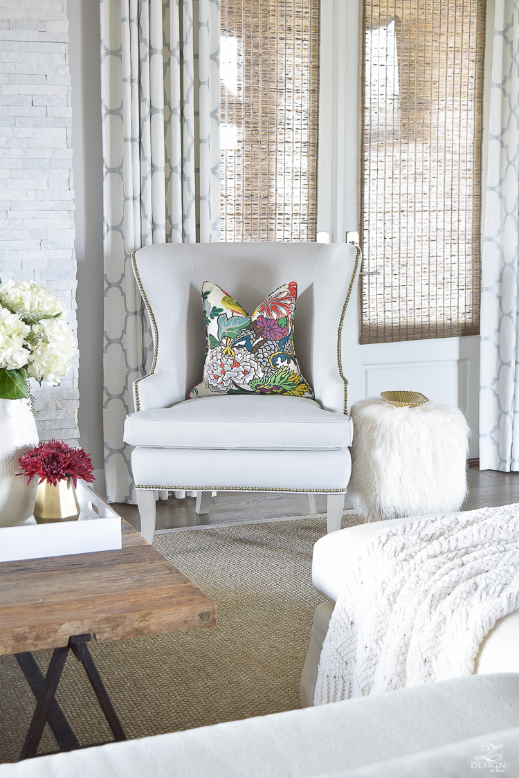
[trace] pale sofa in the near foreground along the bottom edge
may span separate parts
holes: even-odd
[[[473,778],[486,742],[512,778],[517,727],[519,675],[472,675],[0,765],[0,778]]]

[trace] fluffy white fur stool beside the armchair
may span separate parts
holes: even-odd
[[[467,493],[468,424],[459,408],[370,398],[352,406],[349,495],[367,521],[454,513]]]

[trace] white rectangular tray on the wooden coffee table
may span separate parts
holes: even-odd
[[[75,493],[77,521],[37,524],[31,516],[17,527],[0,527],[0,562],[121,548],[121,517],[86,482],[78,479]]]

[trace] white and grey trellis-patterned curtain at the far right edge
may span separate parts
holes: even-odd
[[[496,0],[482,256],[479,468],[519,471],[519,2]]]

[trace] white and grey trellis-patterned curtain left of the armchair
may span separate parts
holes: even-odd
[[[219,240],[219,0],[100,0],[107,498],[134,502],[122,440],[152,351],[132,252]]]

